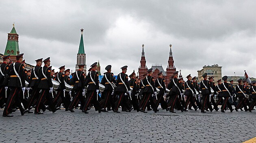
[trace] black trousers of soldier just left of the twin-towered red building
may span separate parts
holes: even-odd
[[[118,96],[117,100],[115,101],[115,110],[118,111],[118,107],[121,105],[122,108],[130,109],[131,105],[129,104],[129,95],[125,95],[125,92],[117,92],[116,95]]]

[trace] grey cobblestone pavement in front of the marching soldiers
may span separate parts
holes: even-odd
[[[2,114],[3,110],[0,110]],[[1,142],[180,142],[241,143],[256,137],[256,110],[226,113],[161,110],[83,114],[61,109],[52,114],[0,117]]]

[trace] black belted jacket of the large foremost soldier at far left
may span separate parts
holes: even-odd
[[[15,63],[15,67],[13,67],[14,63],[9,66],[9,82],[8,87],[25,87],[25,75],[24,75],[24,65],[20,62]],[[14,68],[17,71],[17,74],[20,76],[20,79],[16,76]],[[15,77],[16,76],[16,77]]]

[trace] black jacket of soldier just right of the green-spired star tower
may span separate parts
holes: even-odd
[[[92,71],[90,71],[90,73],[87,76],[88,76],[88,78],[85,81],[85,86],[88,85],[87,90],[95,91],[95,90],[99,89],[99,74],[98,74],[98,72],[92,70]],[[96,85],[93,83],[91,78],[94,80]]]

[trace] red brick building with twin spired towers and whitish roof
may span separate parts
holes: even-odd
[[[165,78],[165,84],[167,85],[170,82],[170,77],[174,71],[176,71],[176,67],[174,66],[174,59],[171,51],[171,44],[170,44],[170,52],[169,52],[169,59],[168,59],[168,66],[166,71],[162,65],[152,65],[153,74],[152,76],[156,79],[158,78],[157,74],[160,71],[163,71],[163,78]],[[141,65],[139,67],[139,78],[143,78],[143,74],[147,73],[148,67],[146,66],[146,59],[145,59],[145,52],[144,52],[144,44],[142,45],[142,52],[141,52]]]

